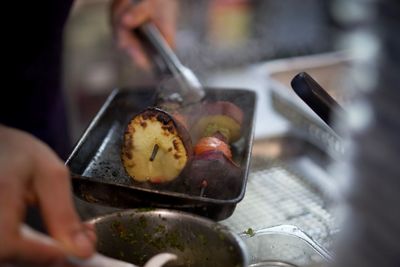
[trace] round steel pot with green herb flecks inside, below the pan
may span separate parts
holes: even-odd
[[[193,214],[164,210],[127,210],[89,221],[96,226],[97,250],[143,264],[151,255],[177,255],[168,266],[247,266],[240,237],[227,227]]]

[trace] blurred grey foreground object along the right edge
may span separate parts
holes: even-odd
[[[336,1],[357,55],[358,101],[348,107],[347,219],[337,266],[400,266],[400,2]]]

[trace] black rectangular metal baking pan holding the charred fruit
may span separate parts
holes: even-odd
[[[237,194],[225,199],[189,195],[179,185],[164,188],[137,183],[125,173],[120,159],[125,127],[134,114],[154,103],[154,88],[143,88],[113,91],[76,144],[66,162],[73,174],[75,195],[89,203],[116,208],[161,207],[193,212],[214,220],[229,217],[246,189],[256,95],[240,89],[208,88],[205,92],[205,100],[230,101],[244,112],[241,138],[231,146],[233,160],[241,169]]]

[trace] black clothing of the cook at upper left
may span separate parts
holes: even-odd
[[[7,27],[5,84],[0,97],[0,123],[27,131],[60,157],[71,149],[62,90],[62,33],[72,0],[10,1],[6,10],[19,19]],[[31,31],[21,33],[27,25]]]

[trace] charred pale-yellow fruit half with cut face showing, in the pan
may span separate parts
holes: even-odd
[[[124,134],[122,162],[135,181],[174,180],[192,155],[190,135],[179,121],[158,108],[136,115]]]

